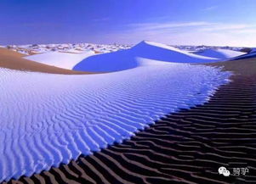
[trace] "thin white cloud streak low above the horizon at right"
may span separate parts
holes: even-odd
[[[136,43],[141,40],[168,44],[256,46],[254,24],[216,22],[163,22],[136,23],[105,35],[115,42]]]

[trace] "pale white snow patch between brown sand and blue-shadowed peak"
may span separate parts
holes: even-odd
[[[87,51],[85,53],[48,52],[26,56],[25,59],[71,70],[77,63],[82,61],[82,59],[86,59],[92,55],[94,55],[93,51]]]

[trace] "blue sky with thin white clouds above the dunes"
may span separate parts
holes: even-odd
[[[0,45],[256,47],[256,0],[0,0]]]

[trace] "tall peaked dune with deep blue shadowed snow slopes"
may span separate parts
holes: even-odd
[[[98,54],[83,59],[73,70],[95,72],[128,70],[139,66],[140,58],[175,63],[208,63],[217,60],[187,53],[161,43],[143,41],[128,50]]]

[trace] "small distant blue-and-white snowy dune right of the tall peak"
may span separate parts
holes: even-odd
[[[228,49],[209,48],[209,49],[197,52],[196,54],[200,55],[200,56],[215,58],[215,59],[230,59],[230,58],[234,58],[234,57],[240,56],[245,53],[238,52],[238,51],[232,51],[232,50],[228,50]]]

